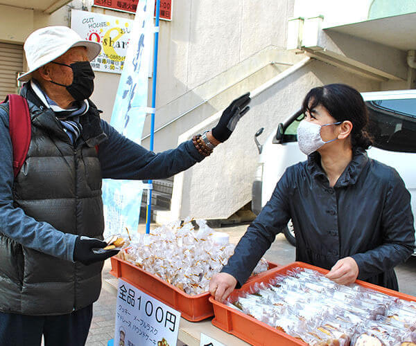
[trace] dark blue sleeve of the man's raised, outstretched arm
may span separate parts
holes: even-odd
[[[192,140],[180,144],[176,149],[155,154],[125,138],[104,120],[101,120],[101,126],[107,135],[98,149],[103,178],[164,179],[187,170],[204,158]]]

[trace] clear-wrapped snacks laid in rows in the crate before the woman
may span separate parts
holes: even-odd
[[[295,268],[227,300],[313,346],[416,346],[416,303]]]

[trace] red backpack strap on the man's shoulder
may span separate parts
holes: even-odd
[[[19,174],[31,144],[31,114],[28,102],[20,95],[9,94],[9,131],[13,147],[13,172]],[[6,102],[5,101],[5,102]]]

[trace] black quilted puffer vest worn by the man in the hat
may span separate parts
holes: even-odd
[[[105,139],[91,103],[80,117],[83,134],[73,146],[60,121],[31,89],[32,138],[13,185],[16,208],[64,233],[102,239],[101,166],[95,145]],[[31,250],[0,235],[0,311],[60,315],[86,307],[101,291],[102,262],[84,266]]]

